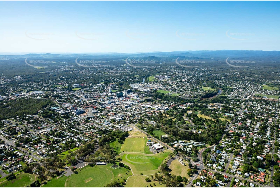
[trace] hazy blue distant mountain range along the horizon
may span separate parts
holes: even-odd
[[[3,53],[2,53],[3,54]],[[177,58],[227,58],[227,57],[246,57],[246,58],[263,58],[268,57],[275,59],[280,57],[280,51],[262,51],[262,50],[199,50],[199,51],[173,51],[173,52],[148,52],[148,53],[89,53],[89,54],[24,54],[24,55],[0,55],[0,58],[26,58],[26,57],[92,57],[92,58],[124,58],[124,57],[141,57],[147,60],[158,60],[162,57]]]

